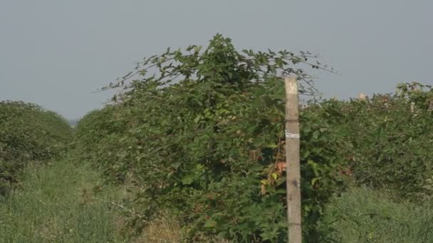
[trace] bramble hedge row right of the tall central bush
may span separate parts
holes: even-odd
[[[359,185],[390,189],[414,200],[429,193],[425,185],[433,175],[433,90],[425,88],[401,84],[395,95],[335,102],[343,114],[335,126],[348,132],[353,146],[350,169]]]

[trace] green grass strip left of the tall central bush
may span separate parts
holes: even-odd
[[[103,201],[117,200],[120,189],[95,195],[99,180],[66,159],[26,168],[19,190],[0,198],[0,242],[122,242],[118,208]]]

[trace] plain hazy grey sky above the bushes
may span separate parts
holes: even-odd
[[[318,72],[326,97],[433,84],[433,1],[0,0],[0,99],[68,119],[111,95],[91,92],[167,47],[310,50],[341,76]],[[316,73],[316,72],[313,72]]]

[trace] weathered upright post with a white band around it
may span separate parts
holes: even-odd
[[[288,242],[302,242],[298,80],[286,77],[286,185]]]

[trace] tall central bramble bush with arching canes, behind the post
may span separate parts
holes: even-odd
[[[118,102],[80,120],[78,154],[110,180],[135,183],[142,215],[169,210],[191,240],[219,234],[285,242],[285,173],[275,166],[285,160],[277,72],[305,77],[288,64],[307,63],[308,54],[243,55],[221,36],[204,51],[187,51],[145,60],[139,72],[156,67],[159,75],[134,80]],[[321,207],[345,187],[338,169],[348,161],[340,156],[348,144],[323,117],[330,119],[325,111],[301,113],[303,230],[317,240]]]

